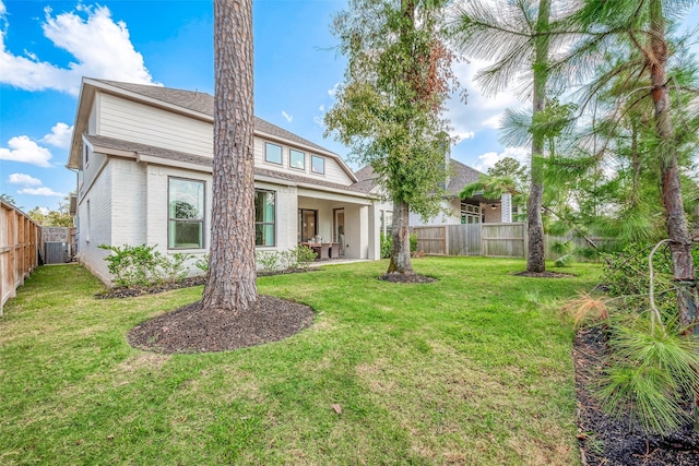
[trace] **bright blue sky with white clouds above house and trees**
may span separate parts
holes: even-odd
[[[330,34],[345,1],[253,5],[257,116],[345,156],[322,127],[345,68]],[[698,22],[695,7],[686,23]],[[470,97],[449,116],[461,136],[452,157],[485,170],[526,153],[498,144],[499,116],[519,104],[508,93],[484,98],[471,83],[477,65],[455,67]],[[82,75],[213,94],[213,2],[0,0],[0,192],[25,211],[56,208],[75,189],[64,165]]]

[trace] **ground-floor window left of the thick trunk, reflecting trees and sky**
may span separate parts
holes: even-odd
[[[167,201],[167,247],[204,247],[204,182],[170,178]]]

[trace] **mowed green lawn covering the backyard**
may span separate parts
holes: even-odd
[[[553,304],[599,268],[414,266],[439,282],[378,280],[386,261],[261,277],[260,292],[311,306],[315,324],[203,355],[125,336],[202,287],[97,300],[84,268],[40,267],[0,318],[0,464],[578,464],[573,332]]]

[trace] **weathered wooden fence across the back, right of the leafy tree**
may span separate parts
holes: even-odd
[[[526,224],[466,224],[412,227],[417,235],[417,250],[428,255],[483,255],[486,258],[526,258]],[[608,242],[593,238],[595,242]],[[556,242],[573,241],[585,247],[581,238],[546,236],[546,259],[558,259]]]

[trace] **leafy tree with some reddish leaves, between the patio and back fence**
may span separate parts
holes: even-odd
[[[443,0],[351,0],[333,33],[345,81],[325,115],[327,133],[370,165],[393,201],[387,274],[413,274],[408,212],[439,211],[450,143],[441,118],[457,83],[440,28]]]

